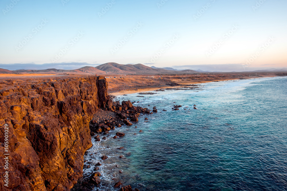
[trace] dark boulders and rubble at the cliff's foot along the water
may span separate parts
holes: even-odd
[[[97,110],[97,112],[93,116],[93,119],[90,121],[91,136],[97,142],[106,140],[107,137],[111,136],[111,134],[109,133],[110,130],[115,129],[116,127],[121,127],[123,125],[130,126],[132,125],[132,122],[137,122],[139,115],[152,114],[153,112],[157,112],[156,108],[151,111],[148,108],[134,106],[131,101],[122,101],[121,104],[119,103],[119,101],[115,101],[113,102],[112,108],[113,112]],[[125,133],[117,132],[113,139],[117,139],[118,137],[123,136],[125,136]],[[119,147],[117,149],[123,149],[123,147]],[[119,157],[122,158],[123,156]],[[94,172],[90,176],[80,180],[73,190],[90,191],[93,190],[95,187],[98,187],[101,183],[101,174],[100,172],[98,172],[98,170],[102,166],[100,162],[104,162],[104,160],[106,159],[108,159],[108,157],[103,155],[101,156],[101,159],[99,159],[99,162],[94,166],[84,166],[84,168],[94,168]],[[90,163],[92,164],[92,162]],[[121,191],[138,190],[137,188],[132,189],[130,185],[122,185],[121,182],[115,182],[114,188],[121,188]]]

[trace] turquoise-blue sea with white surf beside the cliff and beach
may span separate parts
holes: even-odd
[[[141,107],[156,106],[158,113],[111,131],[105,141],[92,139],[85,159],[103,163],[98,189],[118,190],[112,185],[120,180],[142,191],[287,190],[286,84],[286,77],[258,78],[144,98],[119,96],[120,101],[139,101],[134,105]],[[183,107],[171,111],[172,105]],[[126,135],[113,139],[118,131]],[[102,162],[102,155],[109,159]]]

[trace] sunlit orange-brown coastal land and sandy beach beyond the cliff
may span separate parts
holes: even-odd
[[[226,80],[241,80],[250,78],[262,78],[262,77],[275,77],[278,76],[274,72],[266,73],[238,73],[232,74],[196,74],[196,75],[163,75],[163,76],[143,76],[133,75],[116,78],[107,78],[108,92],[113,96],[119,96],[123,94],[133,94],[140,92],[156,91],[158,89],[165,88],[182,88],[188,84],[202,84],[207,82],[218,82]],[[171,85],[167,85],[170,84]]]

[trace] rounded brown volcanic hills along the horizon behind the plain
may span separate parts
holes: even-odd
[[[171,68],[172,69],[172,68]],[[0,68],[0,74],[195,74],[194,70],[167,70],[152,68],[143,64],[117,64],[109,62],[97,67],[84,66],[75,70],[50,68],[46,70],[6,70]]]

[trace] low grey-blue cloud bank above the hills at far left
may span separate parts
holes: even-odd
[[[46,64],[34,64],[34,63],[14,63],[14,64],[0,64],[0,68],[7,70],[44,70],[49,68],[63,69],[63,70],[74,70],[82,68],[84,66],[96,67],[100,64],[89,64],[87,62],[62,62],[62,63],[46,63]]]

